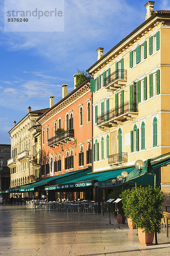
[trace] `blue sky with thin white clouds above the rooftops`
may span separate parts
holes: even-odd
[[[65,0],[64,32],[4,32],[0,4],[0,144],[8,131],[32,110],[48,108],[62,97],[62,84],[73,90],[73,75],[108,52],[144,20],[147,0]],[[170,10],[156,0],[154,10]]]

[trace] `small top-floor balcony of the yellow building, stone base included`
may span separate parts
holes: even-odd
[[[127,70],[118,69],[105,78],[105,88],[108,91],[114,91],[122,87],[127,82]]]

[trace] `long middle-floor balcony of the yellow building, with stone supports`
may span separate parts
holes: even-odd
[[[122,125],[126,120],[133,121],[138,115],[138,104],[136,102],[125,102],[117,108],[113,108],[104,114],[97,116],[97,127],[111,128],[112,126]]]

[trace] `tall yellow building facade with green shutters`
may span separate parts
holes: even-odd
[[[145,5],[146,20],[88,69],[93,75],[93,171],[170,152],[170,11]],[[161,167],[169,198],[170,166]]]

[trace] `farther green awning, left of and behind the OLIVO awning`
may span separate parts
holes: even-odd
[[[34,182],[34,183],[26,185],[26,186],[20,186],[20,192],[34,191],[35,188],[38,188],[40,186],[48,185],[48,183],[51,183],[51,185],[53,185],[53,183],[56,183],[56,182],[64,183],[64,182],[70,181],[73,177],[74,178],[75,177],[81,177],[81,176],[87,174],[88,172],[91,172],[91,170],[82,169],[82,170],[79,170],[79,171],[67,172],[67,173],[62,174],[62,175],[48,177],[48,178],[45,178],[43,180]]]

